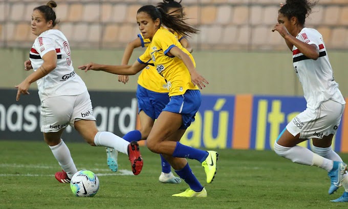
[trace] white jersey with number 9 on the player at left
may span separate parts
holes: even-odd
[[[30,50],[30,61],[34,71],[44,64],[42,57],[53,50],[57,53],[57,67],[36,81],[40,100],[85,92],[87,88],[83,80],[74,72],[68,40],[59,30],[47,30],[35,39]]]

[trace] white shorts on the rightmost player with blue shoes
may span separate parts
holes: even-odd
[[[336,134],[344,106],[329,99],[315,110],[307,108],[288,123],[287,130],[293,136],[300,134],[301,139],[322,138]]]

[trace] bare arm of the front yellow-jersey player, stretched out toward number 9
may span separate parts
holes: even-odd
[[[141,64],[140,62],[135,61],[133,65],[120,65],[120,66],[112,66],[112,65],[101,65],[90,62],[89,64],[79,66],[78,69],[84,70],[87,72],[89,70],[95,71],[104,71],[107,73],[118,74],[118,75],[135,75],[140,72],[147,65]]]

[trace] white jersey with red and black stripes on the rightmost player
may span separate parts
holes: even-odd
[[[315,110],[328,99],[344,104],[345,101],[338,89],[338,83],[335,81],[322,35],[315,29],[303,28],[296,38],[319,48],[317,60],[303,55],[295,46],[292,50],[294,69],[301,82],[307,107]]]

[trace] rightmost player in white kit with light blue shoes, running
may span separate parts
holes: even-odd
[[[328,171],[329,194],[343,184],[348,192],[347,165],[331,148],[344,110],[344,98],[333,77],[321,34],[305,28],[305,19],[315,3],[287,0],[280,5],[278,31],[293,53],[293,65],[307,101],[307,109],[294,117],[274,143],[274,151],[293,162],[316,165]],[[297,144],[311,139],[313,152]],[[343,195],[344,196],[344,195]]]

